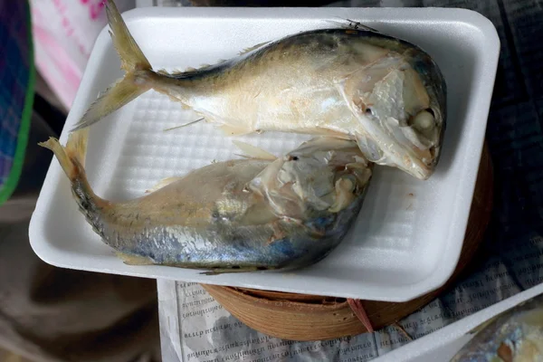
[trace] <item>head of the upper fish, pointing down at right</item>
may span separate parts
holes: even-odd
[[[360,123],[358,146],[371,162],[419,179],[433,174],[445,126],[445,83],[423,54],[388,54],[349,75],[341,91]]]

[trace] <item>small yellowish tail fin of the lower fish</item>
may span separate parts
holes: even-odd
[[[65,147],[62,147],[57,138],[49,138],[45,142],[38,143],[38,145],[52,150],[61,164],[62,170],[73,182],[84,174],[83,167],[85,166],[88,138],[89,130],[81,129],[68,136]]]

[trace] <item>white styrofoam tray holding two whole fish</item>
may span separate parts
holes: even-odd
[[[213,276],[121,262],[84,221],[53,159],[30,224],[33,250],[43,261],[86,271],[390,301],[411,300],[450,277],[462,248],[500,49],[488,19],[468,10],[441,8],[153,7],[131,10],[123,17],[155,69],[213,63],[256,43],[330,27],[329,20],[338,18],[415,43],[433,56],[447,81],[443,156],[427,181],[376,167],[357,224],[322,262],[288,273]],[[99,91],[122,76],[107,30],[90,55],[62,144]],[[93,126],[87,157],[90,185],[110,200],[133,198],[167,176],[236,157],[233,138],[211,124],[163,131],[192,119],[195,115],[178,103],[148,91]],[[238,139],[280,155],[308,138],[264,133]]]

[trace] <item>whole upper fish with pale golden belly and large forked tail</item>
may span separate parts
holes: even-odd
[[[107,9],[127,73],[76,129],[152,89],[228,135],[273,130],[354,139],[371,162],[420,179],[433,174],[446,124],[446,84],[414,44],[367,30],[320,29],[199,70],[168,73],[152,70],[115,6]]]

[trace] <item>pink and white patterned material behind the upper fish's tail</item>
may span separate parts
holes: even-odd
[[[31,0],[36,68],[69,110],[96,37],[107,24],[102,0]],[[116,0],[119,11],[135,1]]]

